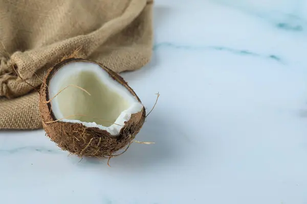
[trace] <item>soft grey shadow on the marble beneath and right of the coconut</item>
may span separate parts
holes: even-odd
[[[144,169],[150,168],[152,165],[159,163],[168,163],[168,161],[176,161],[176,143],[172,143],[170,138],[170,127],[167,127],[167,121],[156,118],[159,113],[150,115],[145,121],[140,133],[136,136],[137,141],[155,142],[155,144],[132,143],[124,154],[111,158],[109,165],[112,168],[127,169]],[[173,127],[171,127],[173,128]],[[123,150],[115,154],[119,154]],[[71,161],[79,167],[90,167],[91,165],[99,165],[108,168],[107,159],[98,158],[77,158],[70,157]],[[81,160],[81,161],[80,161]]]

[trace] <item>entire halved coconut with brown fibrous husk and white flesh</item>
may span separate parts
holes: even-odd
[[[135,138],[145,121],[133,89],[111,69],[84,59],[66,59],[49,70],[39,109],[50,139],[81,157],[111,156]]]

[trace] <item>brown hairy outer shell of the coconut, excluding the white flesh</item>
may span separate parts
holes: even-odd
[[[131,114],[131,118],[125,122],[117,136],[112,136],[105,130],[98,127],[86,127],[81,123],[56,121],[51,103],[46,103],[49,98],[48,84],[53,75],[65,64],[70,62],[92,62],[100,65],[115,81],[120,83],[135,96],[141,103],[137,94],[117,73],[104,65],[84,59],[65,59],[49,70],[40,89],[39,109],[42,118],[43,128],[46,135],[54,141],[61,149],[69,151],[79,157],[104,157],[109,158],[114,152],[126,147],[139,133],[145,121],[145,108],[139,113]],[[55,122],[52,122],[55,121]]]

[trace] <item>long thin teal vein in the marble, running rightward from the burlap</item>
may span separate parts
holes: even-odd
[[[242,55],[242,56],[253,56],[253,57],[259,57],[259,58],[265,58],[277,61],[281,64],[284,64],[283,60],[276,56],[276,55],[260,55],[257,53],[254,53],[250,50],[246,49],[234,49],[231,47],[224,47],[224,46],[192,46],[192,45],[179,45],[171,42],[162,42],[157,43],[153,45],[153,50],[157,50],[161,47],[169,47],[173,49],[184,49],[184,50],[216,50],[216,51],[222,51],[222,52],[229,52],[235,55]]]

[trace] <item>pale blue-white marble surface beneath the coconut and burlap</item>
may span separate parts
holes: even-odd
[[[144,105],[121,157],[80,159],[42,130],[0,132],[1,203],[307,203],[307,2],[156,0]]]

